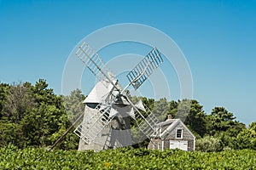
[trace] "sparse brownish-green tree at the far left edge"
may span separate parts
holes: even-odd
[[[2,84],[0,87],[0,145],[26,145],[20,122],[32,110],[34,100],[28,83]]]

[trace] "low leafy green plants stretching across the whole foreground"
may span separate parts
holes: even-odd
[[[122,148],[77,150],[0,149],[1,169],[256,169],[255,150],[186,152]]]

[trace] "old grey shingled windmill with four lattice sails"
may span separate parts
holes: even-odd
[[[132,86],[137,90],[162,64],[163,59],[157,48],[153,48],[126,75],[129,83],[125,88],[122,88],[108,65],[87,42],[79,45],[76,56],[98,81],[84,100],[84,116],[79,116],[83,121],[73,131],[80,138],[79,150],[98,151],[131,145],[130,118],[136,122],[138,129],[148,139],[153,133],[157,133],[154,132],[154,125],[159,123],[158,118],[141,100],[134,104],[126,94],[127,88]],[[79,119],[73,123],[73,126],[79,122]],[[55,144],[57,143],[58,141]]]

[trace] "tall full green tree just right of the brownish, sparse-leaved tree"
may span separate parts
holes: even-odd
[[[50,145],[54,142],[51,135],[65,126],[63,121],[66,120],[61,119],[66,114],[61,97],[55,95],[43,79],[31,87],[31,93],[35,105],[20,122],[27,145]]]

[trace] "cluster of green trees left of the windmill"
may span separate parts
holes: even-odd
[[[53,144],[71,125],[64,105],[69,105],[72,102],[70,98],[76,95],[79,95],[78,101],[83,105],[81,91],[76,90],[67,97],[57,96],[42,79],[34,86],[30,82],[0,83],[0,147],[8,144],[19,148]],[[83,111],[84,106],[80,113]],[[78,137],[69,133],[58,148],[76,149],[78,144]]]

